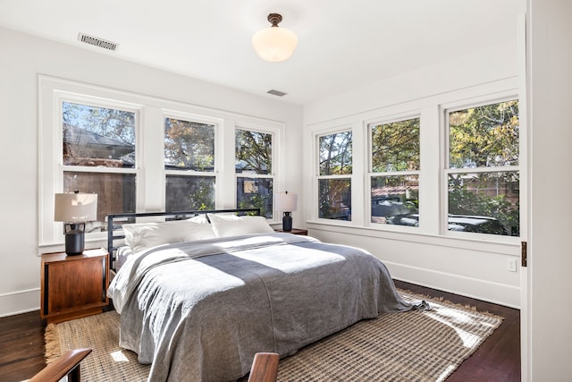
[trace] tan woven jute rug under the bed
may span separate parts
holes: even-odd
[[[384,314],[360,321],[280,361],[279,381],[442,381],[467,359],[502,318],[447,301],[400,291],[431,310]],[[145,381],[149,366],[120,348],[115,311],[46,327],[46,359],[89,347],[85,381]]]

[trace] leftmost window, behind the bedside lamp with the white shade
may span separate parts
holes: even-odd
[[[63,192],[97,193],[97,222],[87,232],[106,229],[105,216],[135,212],[134,112],[62,102]]]

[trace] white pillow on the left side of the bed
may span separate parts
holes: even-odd
[[[131,247],[133,253],[171,242],[192,242],[216,237],[211,225],[198,223],[191,219],[160,223],[133,223],[123,225],[123,232],[125,242]]]

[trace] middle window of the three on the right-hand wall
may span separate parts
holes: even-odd
[[[419,118],[370,123],[371,222],[418,226]]]

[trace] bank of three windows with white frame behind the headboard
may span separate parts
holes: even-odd
[[[63,242],[59,192],[97,193],[93,242],[109,214],[259,207],[273,218],[284,123],[48,76],[38,91],[40,247]]]

